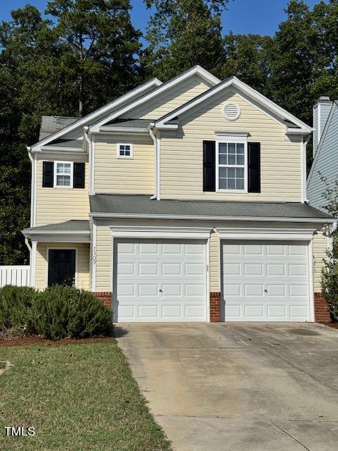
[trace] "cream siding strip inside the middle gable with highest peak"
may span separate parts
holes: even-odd
[[[150,99],[143,105],[128,111],[121,117],[138,119],[161,118],[161,116],[170,113],[170,111],[173,111],[187,101],[202,94],[207,89],[210,89],[210,87],[211,85],[208,85],[198,75],[194,75],[193,77],[182,81],[179,85],[158,94],[154,99]]]

